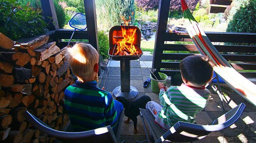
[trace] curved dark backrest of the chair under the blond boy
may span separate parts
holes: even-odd
[[[24,112],[24,116],[36,129],[52,137],[62,139],[65,143],[117,143],[117,139],[111,129],[111,126],[105,126],[84,132],[62,132],[52,129],[28,111]]]

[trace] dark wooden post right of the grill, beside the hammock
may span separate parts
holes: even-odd
[[[163,55],[163,47],[166,38],[166,26],[168,21],[168,12],[171,0],[160,0],[158,8],[158,19],[156,29],[156,42],[154,47],[154,59],[152,69],[160,71],[161,57]]]

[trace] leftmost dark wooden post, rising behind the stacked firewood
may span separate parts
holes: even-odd
[[[40,1],[43,9],[44,19],[46,23],[49,23],[48,24],[49,30],[59,29],[58,19],[56,16],[53,0],[40,0]],[[49,17],[52,17],[52,19],[50,19]]]

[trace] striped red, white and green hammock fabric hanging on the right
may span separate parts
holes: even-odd
[[[185,0],[181,0],[181,5],[184,19],[187,24],[187,31],[197,49],[202,55],[210,57],[215,63],[215,66],[213,67],[214,71],[224,80],[224,82],[226,82],[226,84],[236,91],[236,93],[256,106],[256,85],[239,74],[230,63],[219,54],[209,38],[199,27],[197,21],[189,11]]]

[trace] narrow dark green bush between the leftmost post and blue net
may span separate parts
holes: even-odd
[[[65,12],[61,5],[58,3],[58,0],[54,0],[54,7],[56,11],[57,20],[59,23],[59,28],[62,29],[65,26]]]

